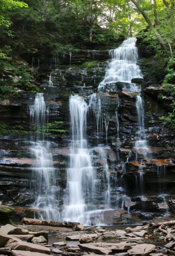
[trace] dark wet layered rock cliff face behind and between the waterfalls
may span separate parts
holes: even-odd
[[[116,47],[119,43],[120,40]],[[106,223],[129,223],[159,217],[168,211],[173,213],[174,132],[159,120],[170,110],[173,98],[166,97],[160,101],[157,97],[161,92],[158,84],[163,75],[159,76],[154,58],[149,55],[145,59],[147,53],[140,49],[140,56],[144,56],[138,65],[144,75],[140,86],[144,98],[145,139],[148,145],[145,154],[141,147],[135,146],[139,125],[137,93],[122,91],[123,85],[119,83],[113,91],[97,91],[110,61],[109,49],[81,49],[61,57],[47,55],[39,58],[37,54],[37,50],[27,51],[27,54],[24,52],[21,55],[24,59],[26,56],[25,61],[16,61],[27,67],[26,72],[33,76],[31,80],[35,88],[43,93],[49,109],[48,123],[63,122],[54,128],[51,126],[53,131],[45,135],[52,145],[49,150],[60,188],[58,207],[61,209],[63,205],[62,195],[66,189],[69,167],[69,97],[79,94],[88,103],[89,96],[96,93],[102,104],[100,120],[103,125],[97,135],[97,112],[90,108],[86,132],[92,166],[97,173],[97,206],[98,209],[105,209],[104,193],[109,182],[111,208],[123,209],[120,214],[106,214]],[[3,69],[1,77],[4,82],[5,79],[15,79],[9,69]],[[36,134],[31,127],[28,109],[29,105],[33,105],[35,95],[35,92],[18,91],[17,95],[0,101],[0,201],[10,206],[30,207],[38,193],[33,175],[36,160],[31,154],[31,143],[36,140]],[[58,129],[62,132],[58,132]],[[103,154],[99,151],[100,147],[104,147]],[[117,214],[119,217],[115,218]],[[111,220],[109,216],[113,216]]]

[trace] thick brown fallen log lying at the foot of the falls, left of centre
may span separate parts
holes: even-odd
[[[50,226],[50,227],[75,227],[80,224],[78,222],[44,221],[42,219],[29,219],[29,218],[23,218],[21,222],[26,225],[42,225],[42,226]]]

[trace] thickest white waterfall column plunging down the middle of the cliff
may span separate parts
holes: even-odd
[[[64,220],[86,222],[85,212],[93,202],[95,189],[95,170],[91,165],[91,156],[85,139],[87,103],[78,95],[69,101],[71,116],[71,154],[68,168],[67,197],[68,205],[64,209]]]

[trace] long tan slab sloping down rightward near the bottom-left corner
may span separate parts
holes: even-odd
[[[21,251],[40,252],[40,253],[50,254],[50,249],[45,247],[45,246],[41,246],[41,245],[37,245],[37,244],[31,244],[31,243],[28,243],[28,242],[23,242],[21,240],[14,241],[13,239],[9,239],[4,244],[4,246],[9,247],[12,250],[21,250]]]

